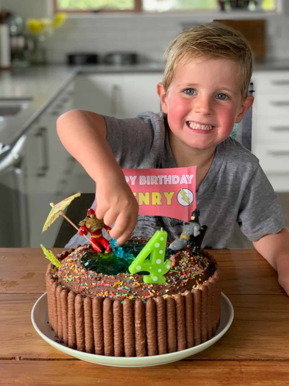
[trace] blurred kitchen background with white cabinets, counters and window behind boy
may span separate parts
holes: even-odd
[[[62,247],[75,231],[59,232],[59,218],[42,234],[49,203],[81,192],[69,207],[76,222],[92,203],[93,181],[57,137],[59,115],[159,111],[163,52],[212,20],[254,51],[251,151],[289,227],[289,1],[0,0],[0,247]],[[236,227],[230,247],[252,243]]]

